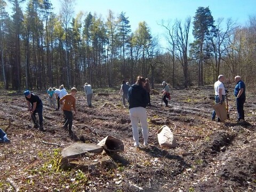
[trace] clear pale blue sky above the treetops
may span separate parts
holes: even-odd
[[[55,13],[59,13],[60,1],[51,0]],[[185,21],[188,16],[193,19],[199,6],[209,6],[214,20],[232,18],[241,26],[246,25],[249,15],[256,16],[256,0],[76,0],[74,5],[75,14],[80,11],[97,13],[98,16],[102,15],[105,21],[109,10],[116,17],[124,12],[132,31],[138,28],[139,22],[145,21],[151,34],[158,36],[162,43],[166,30],[159,26],[159,23],[162,20],[165,23],[174,22],[175,19]]]

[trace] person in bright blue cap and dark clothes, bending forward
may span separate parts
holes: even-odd
[[[34,122],[34,127],[39,128],[40,131],[43,131],[43,103],[42,100],[34,93],[30,93],[29,90],[26,90],[24,92],[27,105],[28,105],[28,111],[30,111],[31,118]],[[36,123],[36,113],[39,117],[39,127]]]

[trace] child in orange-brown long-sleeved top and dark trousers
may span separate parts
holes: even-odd
[[[75,94],[77,92],[77,89],[75,87],[73,87],[71,89],[71,93],[65,95],[64,97],[62,97],[60,99],[60,105],[63,105],[62,110],[63,113],[67,119],[67,121],[65,122],[65,125],[63,126],[64,129],[68,129],[69,134],[72,134],[72,124],[73,124],[73,113],[71,111],[71,107],[73,107],[75,114],[77,114],[76,111],[76,98],[75,98]]]

